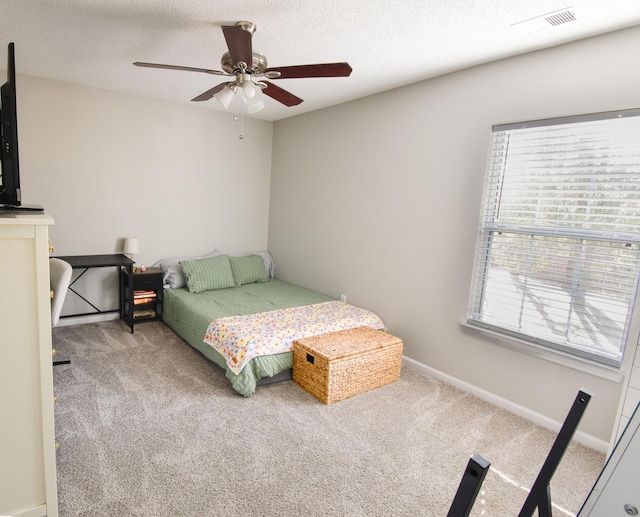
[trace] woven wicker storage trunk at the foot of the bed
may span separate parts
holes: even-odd
[[[402,340],[358,327],[293,342],[293,382],[332,404],[400,378]]]

